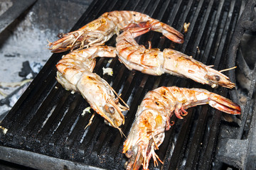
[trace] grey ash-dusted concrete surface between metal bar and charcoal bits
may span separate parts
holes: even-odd
[[[58,39],[58,33],[68,33],[91,1],[38,0],[22,13],[0,33],[0,81],[9,83],[31,78],[19,76],[23,62],[43,66],[52,55],[46,46],[47,40],[53,42]],[[0,15],[15,3],[16,0],[0,0]],[[3,93],[0,100],[17,88],[18,86],[0,84],[0,91]],[[0,115],[10,108],[11,106],[0,103]]]

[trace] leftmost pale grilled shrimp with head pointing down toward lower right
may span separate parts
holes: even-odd
[[[114,47],[100,46],[70,52],[56,64],[57,80],[65,89],[80,92],[107,124],[122,132],[119,128],[124,124],[122,111],[129,110],[129,106],[107,81],[92,73],[95,57],[115,57],[114,51]],[[125,106],[119,103],[119,99]]]

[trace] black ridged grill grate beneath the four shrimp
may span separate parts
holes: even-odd
[[[183,23],[191,23],[181,45],[155,32],[143,35],[138,39],[139,44],[147,45],[150,40],[152,47],[174,48],[220,70],[227,67],[228,45],[244,6],[243,1],[235,0],[95,0],[72,30],[114,10],[146,13],[181,32]],[[114,44],[115,37],[107,42],[107,45]],[[99,115],[85,130],[92,113],[82,115],[82,111],[89,104],[80,94],[65,91],[56,81],[55,64],[64,54],[50,57],[1,122],[1,128],[6,128],[7,132],[4,134],[0,130],[0,152],[13,157],[2,156],[1,159],[36,169],[124,169],[127,158],[122,154],[122,144],[125,137],[117,129],[105,125]],[[109,60],[98,59],[94,72],[122,94],[130,106],[130,111],[124,113],[126,119],[122,130],[125,135],[129,133],[146,92],[159,86],[198,87],[229,98],[228,90],[221,87],[210,89],[167,74],[154,77],[130,72],[117,58],[110,63]],[[102,67],[112,67],[114,75],[102,75]],[[191,108],[188,113],[184,120],[173,117],[175,124],[166,132],[165,140],[156,152],[164,164],[154,168],[151,162],[149,169],[221,169],[226,166],[215,159],[220,132],[228,127],[232,129],[228,137],[233,137],[238,127],[223,122],[223,113],[210,106]]]

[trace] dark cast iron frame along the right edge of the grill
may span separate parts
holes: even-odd
[[[218,157],[226,164],[232,164],[239,169],[256,169],[256,109],[255,109],[255,77],[256,77],[256,63],[246,62],[246,53],[242,54],[242,36],[244,33],[256,32],[256,1],[247,1],[245,9],[242,11],[238,20],[237,26],[230,41],[228,50],[228,64],[229,67],[235,65],[235,60],[242,74],[250,80],[250,88],[247,91],[247,101],[243,108],[240,129],[233,137],[224,138],[220,142],[220,151]],[[251,45],[247,43],[246,45]],[[254,45],[250,47],[254,52]],[[230,79],[235,81],[235,72],[230,72]],[[233,89],[230,91],[230,96],[233,101],[238,101],[238,91]],[[239,147],[238,147],[239,146]]]

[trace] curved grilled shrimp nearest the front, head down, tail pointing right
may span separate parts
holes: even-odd
[[[171,116],[175,114],[183,118],[187,108],[203,104],[233,115],[241,111],[240,106],[228,98],[204,89],[162,86],[149,91],[138,108],[132,129],[124,142],[123,153],[129,158],[127,169],[139,169],[141,165],[147,169],[151,157],[154,164],[158,164],[156,159],[159,157],[154,150],[164,141],[164,131],[170,128]]]

